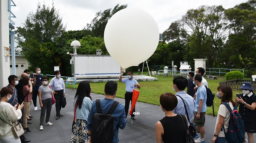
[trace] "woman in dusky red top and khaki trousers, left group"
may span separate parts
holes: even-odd
[[[28,76],[23,78],[23,96],[26,96],[24,99],[24,109],[23,109],[23,118],[22,124],[23,129],[26,133],[30,133],[31,131],[27,127],[27,118],[29,117],[30,104],[32,102],[32,84],[29,84],[30,78]]]

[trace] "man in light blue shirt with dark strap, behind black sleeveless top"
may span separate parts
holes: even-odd
[[[173,79],[173,90],[175,92],[177,92],[175,94],[175,96],[178,99],[178,104],[173,109],[173,112],[175,114],[182,114],[182,115],[187,116],[185,106],[184,106],[184,103],[182,101],[182,99],[183,99],[185,104],[186,104],[187,111],[188,111],[189,122],[191,122],[191,120],[193,118],[194,109],[195,109],[195,100],[190,95],[186,94],[186,92],[184,91],[187,84],[188,84],[187,79],[184,78],[183,76],[176,76]],[[178,97],[177,95],[181,96],[182,99],[180,97]]]

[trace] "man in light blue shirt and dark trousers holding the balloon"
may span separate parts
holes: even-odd
[[[133,89],[136,89],[136,87],[140,89],[140,85],[138,84],[137,80],[133,79],[132,71],[127,72],[127,77],[128,77],[127,79],[122,79],[123,73],[124,73],[124,71],[121,72],[119,82],[125,83],[126,93],[124,94],[124,99],[125,99],[124,108],[125,108],[125,116],[127,117],[128,110],[129,110],[129,104],[130,104],[130,101],[132,101]],[[133,108],[132,112],[135,112],[135,107]],[[131,115],[132,120],[135,120],[134,116],[135,116],[134,114]]]

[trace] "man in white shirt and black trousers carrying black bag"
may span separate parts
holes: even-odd
[[[62,99],[65,96],[65,84],[64,80],[60,77],[60,71],[54,71],[55,77],[52,78],[52,80],[49,83],[49,86],[51,86],[54,89],[53,95],[56,100],[55,107],[56,107],[56,120],[58,120],[61,116],[60,110],[61,110],[61,104]]]

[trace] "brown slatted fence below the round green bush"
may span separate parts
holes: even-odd
[[[232,79],[232,80],[225,80],[223,82],[219,82],[219,86],[230,86],[233,90],[240,90],[239,88],[242,86],[243,82],[251,82],[252,88],[255,90],[255,83],[252,80],[242,80],[242,79]]]

